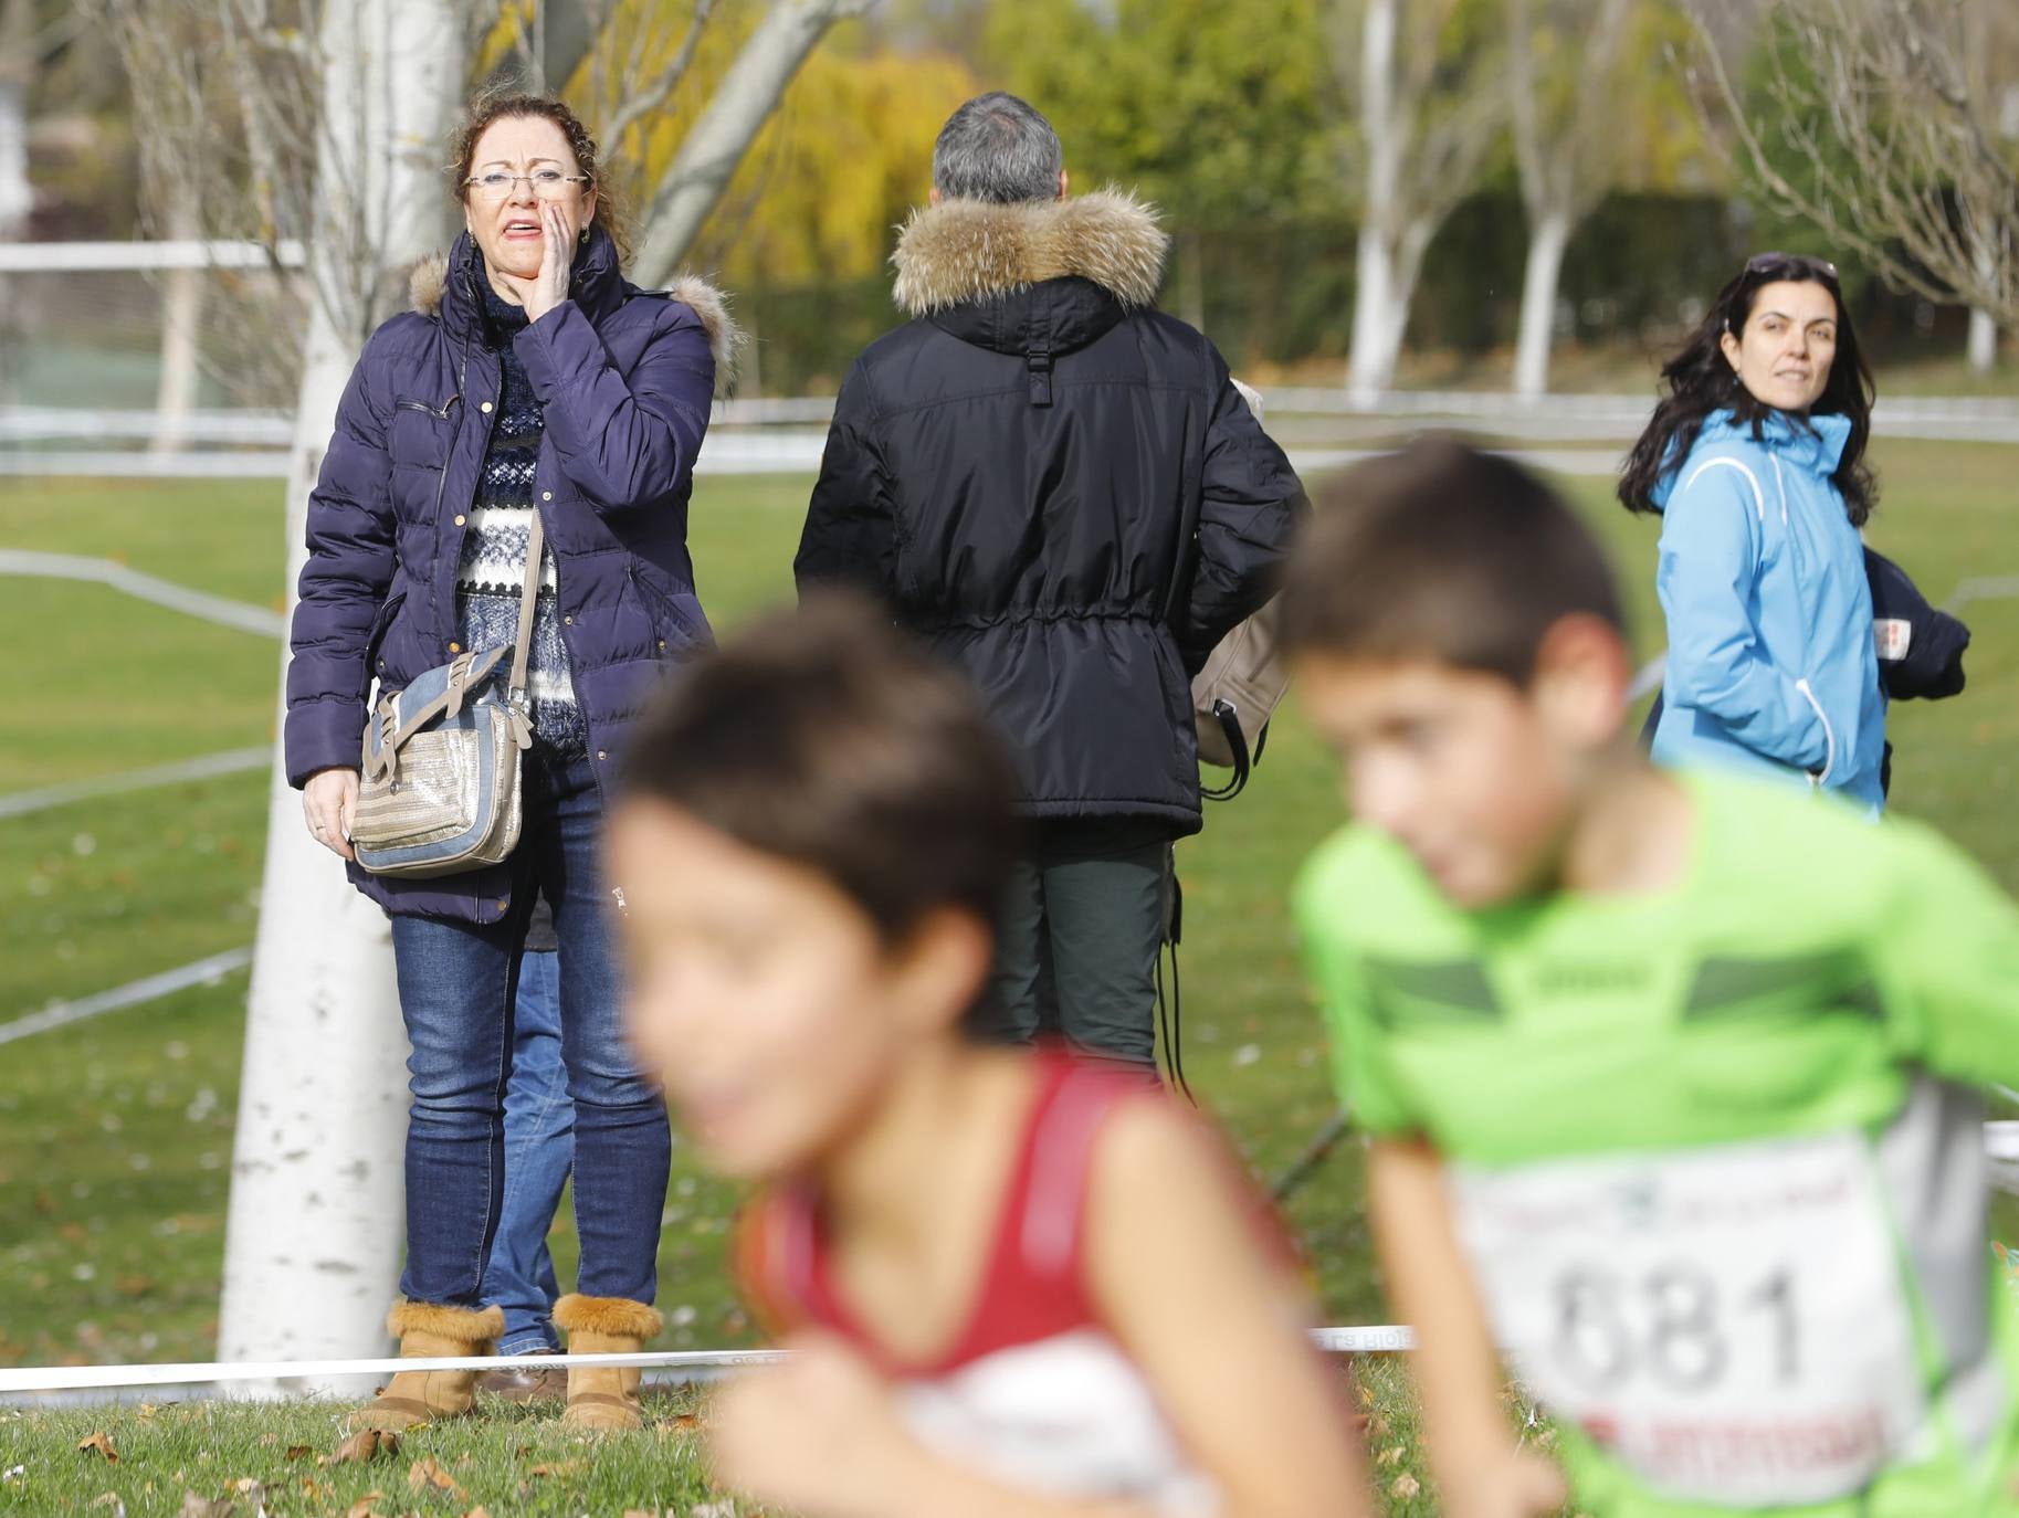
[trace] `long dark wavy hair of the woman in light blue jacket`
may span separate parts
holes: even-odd
[[[1821,285],[1837,303],[1837,355],[1829,365],[1829,384],[1823,386],[1823,394],[1809,410],[1811,414],[1851,420],[1851,436],[1843,444],[1843,460],[1831,480],[1843,495],[1843,511],[1851,525],[1866,525],[1880,499],[1878,480],[1866,466],[1876,394],[1872,369],[1866,365],[1864,349],[1857,347],[1857,331],[1843,305],[1835,264],[1799,252],[1761,252],[1746,258],[1738,279],[1718,291],[1718,299],[1710,303],[1710,311],[1690,333],[1690,341],[1662,365],[1662,402],[1654,408],[1654,418],[1639,442],[1633,444],[1633,452],[1627,454],[1625,470],[1619,476],[1619,501],[1627,511],[1662,511],[1654,499],[1656,491],[1664,478],[1682,468],[1682,460],[1690,456],[1690,448],[1712,412],[1730,410],[1752,428],[1755,440],[1761,436],[1773,408],[1738,382],[1720,339],[1726,333],[1738,337],[1752,315],[1752,299],[1761,287],[1781,281]],[[1797,426],[1801,424],[1801,418],[1793,420]]]

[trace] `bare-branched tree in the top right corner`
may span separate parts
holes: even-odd
[[[1755,99],[1696,4],[1706,125],[1781,210],[1894,289],[2019,321],[2011,0],[1773,0]]]

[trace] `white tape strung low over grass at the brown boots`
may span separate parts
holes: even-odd
[[[1393,1354],[1415,1348],[1409,1328],[1314,1328],[1312,1342],[1329,1354]],[[773,1365],[775,1348],[646,1350],[640,1354],[541,1354],[539,1367],[569,1365],[721,1371],[739,1365]],[[329,1377],[388,1377],[400,1371],[497,1371],[507,1365],[485,1354],[436,1354],[376,1361],[242,1361],[188,1365],[30,1365],[0,1371],[0,1395],[24,1391],[101,1391],[111,1387],[210,1387],[232,1381],[327,1381]]]

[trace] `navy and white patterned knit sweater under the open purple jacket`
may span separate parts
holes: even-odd
[[[491,448],[476,486],[476,503],[462,537],[456,567],[456,622],[462,646],[472,650],[511,646],[519,636],[519,591],[525,585],[525,555],[533,545],[533,468],[545,426],[533,382],[513,351],[511,339],[525,331],[525,309],[507,303],[491,281],[481,281],[491,347],[505,367]],[[527,654],[527,686],[533,700],[533,739],[557,755],[588,749],[588,729],[575,704],[575,684],[567,668],[567,644],[555,614],[559,577],[553,549],[541,553],[539,602],[533,608],[533,646]]]

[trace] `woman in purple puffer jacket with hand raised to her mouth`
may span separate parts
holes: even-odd
[[[287,676],[287,771],[311,834],[392,916],[414,1046],[404,1354],[487,1352],[479,1286],[497,1227],[509,1007],[533,900],[553,904],[561,1048],[575,1100],[575,1350],[638,1348],[652,1310],[668,1128],[618,1029],[604,787],[654,684],[705,648],[686,507],[735,331],[699,281],[640,291],[596,143],[553,99],[497,97],[454,141],[466,232],[371,333],[309,503]],[[545,531],[531,642],[523,834],[501,866],[369,876],[349,848],[374,680],[398,690],[462,650],[511,644],[529,529]],[[636,1427],[636,1371],[575,1371],[575,1427]],[[468,1411],[474,1375],[406,1373],[357,1415]]]

